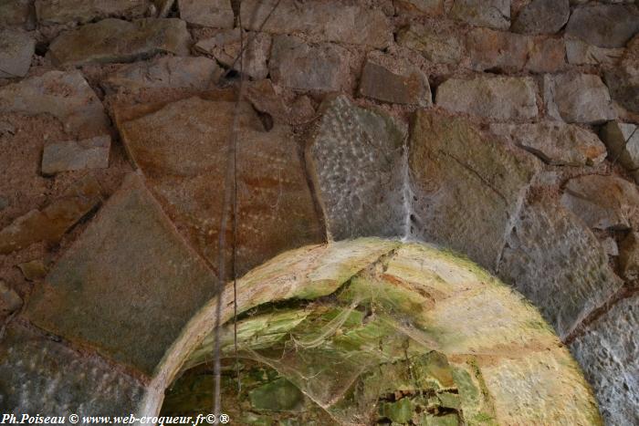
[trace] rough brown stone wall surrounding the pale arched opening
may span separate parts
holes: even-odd
[[[450,248],[639,421],[635,2],[235,3],[0,0],[7,341],[136,394],[213,294],[236,131],[238,274],[362,235]]]

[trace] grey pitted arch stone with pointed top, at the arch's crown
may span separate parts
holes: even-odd
[[[335,240],[403,235],[403,145],[406,130],[391,117],[344,96],[326,101],[306,148],[307,163]]]

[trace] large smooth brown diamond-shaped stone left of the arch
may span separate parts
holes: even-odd
[[[26,317],[152,375],[217,279],[130,174],[37,286]]]

